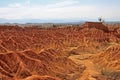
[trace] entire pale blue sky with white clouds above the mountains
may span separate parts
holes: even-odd
[[[0,0],[3,19],[98,19],[120,21],[120,0]]]

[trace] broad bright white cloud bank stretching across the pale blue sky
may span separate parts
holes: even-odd
[[[111,10],[95,6],[81,6],[77,0],[66,0],[48,5],[32,5],[30,0],[24,3],[13,3],[9,7],[0,8],[0,18],[6,19],[70,19],[70,18],[105,18],[115,16]],[[108,10],[108,11],[106,11]],[[114,10],[117,15],[117,10]]]

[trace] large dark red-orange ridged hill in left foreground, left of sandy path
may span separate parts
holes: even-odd
[[[2,53],[0,54],[1,79],[25,79],[32,75],[54,76],[61,79],[69,74],[74,74],[72,78],[80,76],[80,71],[84,70],[81,65],[72,62],[59,51],[52,49],[40,53],[33,51]],[[33,79],[34,80],[34,79]],[[43,79],[40,79],[43,80]],[[56,80],[52,79],[51,80]]]

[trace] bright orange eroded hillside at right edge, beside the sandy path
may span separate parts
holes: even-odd
[[[120,45],[108,47],[105,52],[96,56],[94,61],[106,70],[120,70]]]

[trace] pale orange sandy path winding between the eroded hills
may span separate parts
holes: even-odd
[[[98,75],[100,71],[95,69],[94,64],[91,60],[80,60],[79,58],[80,55],[70,56],[70,59],[72,59],[75,63],[84,64],[86,66],[86,70],[83,72],[82,77],[77,80],[96,80],[92,76]]]

